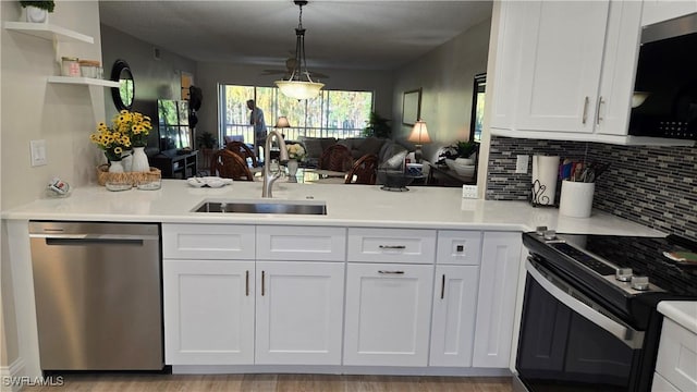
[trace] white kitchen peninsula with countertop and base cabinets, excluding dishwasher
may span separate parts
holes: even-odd
[[[564,218],[427,186],[280,183],[273,200],[323,203],[327,215],[192,212],[260,194],[258,182],[164,180],[4,211],[26,373],[41,372],[29,220],[161,223],[163,363],[174,372],[510,375],[521,232],[662,235],[606,213]]]

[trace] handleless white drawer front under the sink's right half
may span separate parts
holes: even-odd
[[[346,229],[257,226],[257,259],[344,261]]]

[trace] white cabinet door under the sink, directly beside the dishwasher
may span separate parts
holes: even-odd
[[[254,364],[254,261],[166,259],[162,271],[166,364]]]

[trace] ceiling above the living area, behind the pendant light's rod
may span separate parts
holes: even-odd
[[[101,23],[205,62],[283,69],[294,56],[292,0],[100,0]],[[491,16],[488,1],[309,0],[308,69],[393,70]]]

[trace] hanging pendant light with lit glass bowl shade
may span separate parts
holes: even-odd
[[[294,0],[293,2],[301,9],[299,21],[295,29],[295,65],[288,79],[280,79],[274,83],[286,97],[309,99],[317,97],[319,90],[325,87],[325,84],[314,82],[307,71],[307,61],[305,60],[305,28],[303,28],[303,5],[307,5],[307,0]]]

